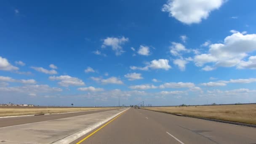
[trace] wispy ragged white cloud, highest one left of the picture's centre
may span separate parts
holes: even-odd
[[[119,56],[125,51],[123,51],[123,48],[121,45],[128,42],[128,38],[125,37],[107,37],[104,39],[103,44],[101,45],[101,48],[105,48],[106,46],[112,47],[112,50],[115,51],[115,55]]]

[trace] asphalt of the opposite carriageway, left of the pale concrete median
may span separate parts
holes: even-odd
[[[25,116],[25,117],[8,117],[8,118],[0,118],[0,128],[13,126],[13,125],[22,125],[27,123],[37,123],[43,122],[47,120],[56,120],[60,118],[66,117],[75,117],[79,115],[88,115],[96,112],[105,112],[112,109],[105,110],[95,110],[95,111],[85,111],[85,112],[72,112],[72,113],[62,113],[62,114],[51,114],[51,115],[37,115],[37,116]]]

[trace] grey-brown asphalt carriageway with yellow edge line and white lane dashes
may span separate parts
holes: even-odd
[[[131,108],[81,144],[256,144],[256,128]]]

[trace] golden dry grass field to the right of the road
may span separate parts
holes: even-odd
[[[145,109],[256,125],[256,104],[197,107],[146,107]]]

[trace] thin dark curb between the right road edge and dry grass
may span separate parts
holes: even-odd
[[[145,109],[145,110],[150,110],[150,109]],[[219,123],[227,123],[227,124],[231,124],[231,125],[240,125],[240,126],[246,126],[246,127],[250,127],[250,128],[256,128],[256,125],[250,125],[250,124],[246,124],[246,123],[236,123],[236,122],[230,122],[230,121],[225,121],[225,120],[215,120],[215,119],[211,119],[211,118],[195,117],[195,116],[189,116],[189,115],[181,115],[181,114],[175,114],[175,113],[163,112],[163,111],[156,111],[156,110],[150,110],[150,111],[162,112],[162,113],[171,114],[171,115],[177,115],[177,116],[181,116],[181,117],[192,117],[192,118],[197,118],[197,119],[201,119],[201,120],[209,120],[209,121],[214,121],[214,122],[219,122]]]

